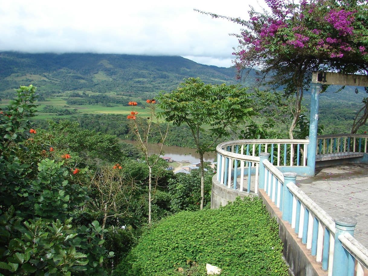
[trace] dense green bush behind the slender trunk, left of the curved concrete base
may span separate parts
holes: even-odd
[[[210,191],[212,188],[212,173],[205,173],[205,202],[209,204],[211,200]],[[169,193],[171,196],[170,207],[174,212],[181,210],[199,210],[199,202],[201,202],[201,172],[192,170],[189,174],[174,174],[169,179]]]

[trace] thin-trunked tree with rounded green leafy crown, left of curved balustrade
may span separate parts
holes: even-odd
[[[192,132],[201,162],[201,209],[204,205],[203,155],[213,151],[219,138],[228,136],[229,130],[250,120],[255,114],[254,99],[246,88],[235,85],[204,84],[199,78],[188,78],[172,93],[160,93],[160,113],[174,125],[187,124]],[[202,139],[209,132],[212,141]]]

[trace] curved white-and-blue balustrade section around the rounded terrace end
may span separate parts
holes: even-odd
[[[250,192],[258,189],[259,158],[269,153],[270,162],[279,167],[307,167],[308,139],[258,139],[223,142],[217,146],[217,181],[228,188]],[[300,171],[300,170],[299,170]],[[244,176],[246,183],[244,183]],[[238,177],[240,180],[238,181]]]

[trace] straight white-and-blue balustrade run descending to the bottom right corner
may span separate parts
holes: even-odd
[[[329,276],[362,276],[368,268],[368,250],[354,239],[354,219],[335,222],[321,207],[296,186],[296,173],[283,173],[263,155],[260,177],[266,194],[282,212],[282,219],[291,224],[315,261]],[[341,241],[342,240],[342,241]],[[357,263],[355,265],[355,259]],[[357,274],[354,274],[357,271]]]

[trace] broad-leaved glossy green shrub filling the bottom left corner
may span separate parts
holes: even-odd
[[[61,276],[87,270],[86,255],[70,244],[77,240],[73,239],[77,233],[71,229],[70,222],[71,219],[64,224],[60,220],[25,221],[20,238],[11,240],[4,252],[6,261],[0,262],[0,268],[8,270],[10,275]]]

